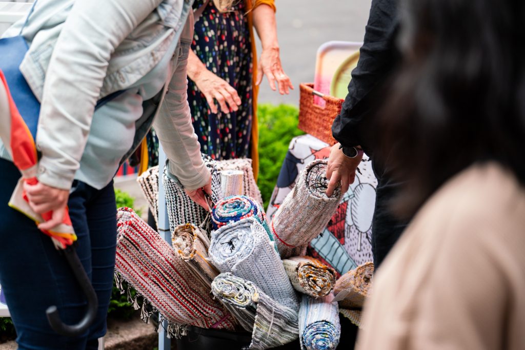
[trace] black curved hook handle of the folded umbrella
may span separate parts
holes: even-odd
[[[98,311],[98,298],[95,290],[93,289],[93,286],[91,285],[91,281],[89,280],[89,277],[84,270],[80,259],[78,258],[75,248],[69,246],[64,249],[63,252],[67,262],[69,263],[69,266],[73,270],[78,284],[80,284],[80,288],[88,299],[88,311],[82,320],[74,325],[65,324],[62,322],[62,320],[60,320],[60,315],[58,314],[58,310],[55,305],[49,306],[47,308],[46,315],[49,325],[58,334],[66,336],[79,336],[86,332],[91,323],[93,323],[95,320]]]

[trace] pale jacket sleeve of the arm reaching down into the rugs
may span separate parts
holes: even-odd
[[[181,56],[178,57],[166,96],[153,128],[169,159],[169,172],[177,177],[185,189],[194,190],[206,185],[210,174],[202,161],[201,145],[193,129],[190,105],[187,101],[187,56],[193,37],[193,14],[188,16],[181,39]],[[177,54],[177,50],[175,51]]]

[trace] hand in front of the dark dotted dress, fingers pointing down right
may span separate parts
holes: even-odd
[[[220,109],[224,113],[229,113],[230,110],[237,111],[239,109],[238,106],[241,104],[241,101],[237,91],[230,86],[226,80],[217,77],[213,72],[203,68],[199,70],[198,75],[194,77],[193,81],[197,85],[197,88],[204,94],[212,113],[217,113],[217,106],[213,99],[217,100]]]

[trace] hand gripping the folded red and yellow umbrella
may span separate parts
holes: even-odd
[[[41,222],[38,225],[39,229],[50,230],[62,224],[66,213],[69,190],[47,186],[43,183],[29,185],[26,182],[24,182],[24,190],[29,199],[29,207],[33,209],[35,213],[44,214],[48,213],[48,211],[53,211],[51,219],[46,222]]]

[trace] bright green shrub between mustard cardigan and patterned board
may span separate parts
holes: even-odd
[[[257,185],[266,209],[277,182],[282,161],[288,152],[288,145],[293,137],[302,135],[304,132],[297,129],[299,110],[293,105],[259,104],[257,117],[259,120]]]

